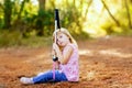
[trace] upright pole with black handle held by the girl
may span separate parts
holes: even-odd
[[[58,15],[58,9],[55,9],[55,43],[56,43],[56,38],[57,38],[57,34],[56,31],[61,30],[61,25],[59,25],[59,15]],[[57,61],[57,56],[53,56],[53,79],[55,80],[55,65],[56,65],[56,61]]]

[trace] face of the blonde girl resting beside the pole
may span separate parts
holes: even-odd
[[[57,44],[59,46],[66,46],[69,43],[69,37],[64,33],[57,33]]]

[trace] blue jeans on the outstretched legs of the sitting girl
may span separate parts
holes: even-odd
[[[55,70],[55,79],[53,79],[53,72],[48,70],[42,75],[33,77],[34,84],[48,82],[48,81],[67,81],[65,74]]]

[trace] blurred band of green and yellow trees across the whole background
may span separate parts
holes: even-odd
[[[29,36],[32,32],[50,35],[54,31],[54,9],[58,8],[62,26],[70,29],[75,36],[85,35],[84,31],[99,34],[103,30],[108,34],[100,28],[102,24],[111,30],[132,28],[131,4],[132,0],[2,0],[0,23]]]

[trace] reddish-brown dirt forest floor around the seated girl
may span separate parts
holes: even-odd
[[[78,41],[78,82],[22,85],[20,77],[52,68],[51,47],[0,48],[0,88],[132,88],[132,37]]]

